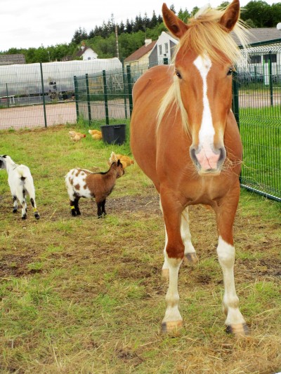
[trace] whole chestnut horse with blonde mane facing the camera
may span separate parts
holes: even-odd
[[[223,270],[226,330],[248,333],[235,291],[233,222],[240,196],[242,144],[231,111],[232,72],[240,58],[233,31],[246,45],[239,0],[224,10],[202,8],[188,24],[166,4],[166,27],[179,39],[173,65],[152,67],[133,86],[131,149],[159,192],[166,243],[163,274],[169,277],[163,331],[180,328],[178,270],[197,261],[188,206],[216,213],[218,261]]]

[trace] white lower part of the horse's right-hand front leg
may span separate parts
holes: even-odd
[[[226,243],[221,236],[218,237],[218,261],[223,269],[223,283],[225,293],[223,295],[223,312],[226,313],[226,326],[232,328],[235,325],[246,325],[239,310],[239,299],[235,290],[234,263],[235,248]],[[246,331],[244,331],[246,333]]]

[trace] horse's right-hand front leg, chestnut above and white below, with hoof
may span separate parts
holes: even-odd
[[[216,211],[218,225],[218,261],[223,270],[223,312],[226,314],[226,331],[235,335],[247,335],[249,329],[239,309],[239,299],[235,290],[233,246],[233,222],[237,209],[240,188],[237,187],[220,201]]]

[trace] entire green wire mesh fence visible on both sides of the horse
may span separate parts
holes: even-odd
[[[41,65],[37,76],[18,71],[17,84],[15,77],[2,72],[0,129],[76,123],[79,118],[95,126],[126,123],[133,109],[135,81],[151,66],[167,63],[166,58],[123,66],[115,61],[95,69],[93,62],[87,62],[86,71],[69,68],[68,86],[67,62],[56,73],[48,64]],[[237,68],[233,77],[233,112],[244,149],[241,185],[281,201],[281,39],[279,44],[266,42],[249,48],[247,67]]]

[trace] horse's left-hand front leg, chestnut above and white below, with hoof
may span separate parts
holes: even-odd
[[[169,288],[166,293],[166,312],[162,321],[162,331],[178,330],[183,319],[178,310],[178,270],[183,262],[184,250],[181,239],[181,211],[183,208],[171,196],[161,196],[162,211],[166,227],[165,265],[169,272]]]

